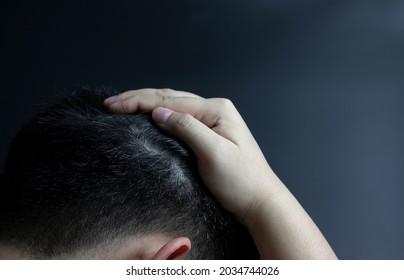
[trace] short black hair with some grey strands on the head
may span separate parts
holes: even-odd
[[[203,186],[192,152],[146,114],[113,114],[117,92],[80,88],[16,135],[1,176],[0,242],[58,258],[116,238],[187,236],[193,259],[251,259],[247,230]]]

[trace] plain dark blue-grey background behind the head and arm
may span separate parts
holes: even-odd
[[[404,259],[404,1],[0,8],[1,165],[36,105],[76,85],[228,97],[340,258]]]

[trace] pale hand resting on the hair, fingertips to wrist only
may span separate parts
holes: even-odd
[[[279,186],[268,185],[276,176],[228,99],[141,89],[107,99],[105,106],[118,113],[152,113],[161,129],[193,150],[206,187],[241,222],[250,221]]]

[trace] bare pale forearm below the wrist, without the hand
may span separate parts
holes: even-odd
[[[303,207],[276,177],[244,221],[263,259],[337,259]]]

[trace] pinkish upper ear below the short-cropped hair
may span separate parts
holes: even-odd
[[[191,240],[177,237],[164,244],[153,256],[153,260],[178,260],[191,250]]]

